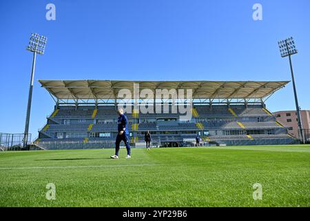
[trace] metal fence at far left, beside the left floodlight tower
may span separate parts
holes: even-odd
[[[24,133],[0,133],[0,151],[19,151],[23,149]],[[27,146],[31,143],[31,133],[28,134]]]

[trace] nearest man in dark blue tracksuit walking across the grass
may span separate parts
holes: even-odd
[[[131,158],[130,155],[130,140],[129,140],[129,129],[128,129],[128,119],[126,115],[124,114],[124,111],[122,108],[118,109],[118,119],[117,119],[117,131],[118,134],[116,136],[116,141],[115,141],[115,155],[112,155],[112,159],[118,159],[118,151],[119,151],[119,144],[123,140],[125,143],[126,149],[127,149],[127,157],[126,159]]]

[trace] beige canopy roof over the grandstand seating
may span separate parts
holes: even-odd
[[[134,95],[134,83],[140,90],[192,89],[194,99],[259,99],[284,87],[289,81],[118,81],[118,80],[39,80],[57,99],[118,99],[118,91],[128,89]],[[185,92],[186,95],[186,92]]]

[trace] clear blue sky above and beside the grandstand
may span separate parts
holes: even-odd
[[[48,3],[56,21],[45,19]],[[262,21],[252,19],[254,3]],[[33,138],[54,106],[38,79],[290,80],[277,41],[291,36],[300,106],[310,109],[309,0],[3,0],[0,23],[0,132],[24,130],[31,32],[48,37],[37,57]],[[291,83],[267,108],[294,108]]]

